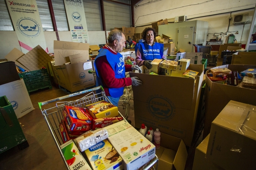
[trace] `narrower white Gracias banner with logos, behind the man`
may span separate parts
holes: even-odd
[[[64,0],[72,42],[89,43],[83,0]]]

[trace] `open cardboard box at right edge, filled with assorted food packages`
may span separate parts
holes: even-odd
[[[256,65],[223,65],[214,68],[225,67],[231,71],[238,71],[240,73],[247,68],[256,68]],[[206,74],[209,72],[210,70],[207,70]],[[214,83],[206,76],[206,101],[203,138],[209,134],[211,129],[211,122],[217,117],[217,115],[230,100],[256,106],[256,100],[253,100],[255,96],[256,90]]]

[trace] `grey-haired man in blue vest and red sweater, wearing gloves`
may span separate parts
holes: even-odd
[[[138,77],[125,77],[125,72],[142,70],[137,65],[125,65],[120,54],[125,47],[125,36],[122,31],[114,29],[109,33],[108,43],[102,47],[95,58],[96,85],[104,88],[107,98],[112,104],[118,106],[120,96],[124,93],[125,86],[142,85]]]

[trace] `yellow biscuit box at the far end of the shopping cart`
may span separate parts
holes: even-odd
[[[105,100],[89,104],[86,108],[89,110],[93,118],[118,116],[118,108]]]

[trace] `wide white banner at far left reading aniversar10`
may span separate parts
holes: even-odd
[[[23,53],[40,45],[47,53],[48,48],[35,0],[6,0],[14,30]]]

